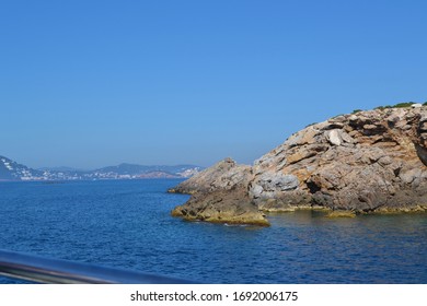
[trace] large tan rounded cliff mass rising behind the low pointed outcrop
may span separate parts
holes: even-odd
[[[302,142],[305,134],[315,142]],[[354,211],[427,205],[426,141],[426,107],[339,116],[299,131],[261,157],[250,195],[256,193],[259,207],[269,199],[296,202],[295,192],[272,195],[258,187],[266,168],[275,173],[279,161],[286,160],[279,170],[299,178],[298,190],[307,200],[297,201],[300,204]]]

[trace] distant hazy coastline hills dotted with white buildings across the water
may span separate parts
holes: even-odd
[[[95,170],[80,170],[69,167],[32,169],[12,160],[0,156],[0,180],[93,180],[138,178],[187,178],[203,170],[195,165],[145,166],[120,164]]]

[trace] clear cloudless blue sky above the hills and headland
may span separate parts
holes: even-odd
[[[427,101],[427,1],[0,0],[0,155],[241,163],[309,123]]]

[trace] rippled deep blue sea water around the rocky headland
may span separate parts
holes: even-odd
[[[204,283],[427,283],[427,214],[184,222],[176,179],[0,183],[0,248]],[[13,282],[0,279],[0,283]]]

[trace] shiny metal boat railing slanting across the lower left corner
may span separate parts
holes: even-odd
[[[185,284],[184,280],[0,249],[0,275],[50,284]]]

